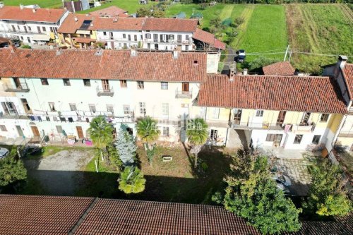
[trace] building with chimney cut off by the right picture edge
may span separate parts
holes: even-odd
[[[339,56],[336,64],[324,66],[324,75],[333,77],[347,106],[335,145],[353,151],[353,64],[347,63],[347,56]]]

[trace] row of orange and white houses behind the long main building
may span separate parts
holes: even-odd
[[[198,29],[198,20],[70,14],[58,32],[61,45],[70,48],[88,48],[100,42],[106,49],[215,52],[225,49],[215,35]]]

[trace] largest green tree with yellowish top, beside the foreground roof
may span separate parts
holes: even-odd
[[[232,173],[225,178],[225,208],[263,234],[298,231],[301,210],[270,179],[267,157],[239,150],[233,161]]]

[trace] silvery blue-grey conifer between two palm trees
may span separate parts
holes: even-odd
[[[137,146],[127,131],[119,130],[114,145],[124,166],[130,166],[135,162]]]

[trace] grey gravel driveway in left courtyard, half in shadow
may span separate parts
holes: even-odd
[[[74,195],[83,181],[84,167],[94,157],[92,149],[61,150],[41,159],[23,159],[28,175],[49,195]]]

